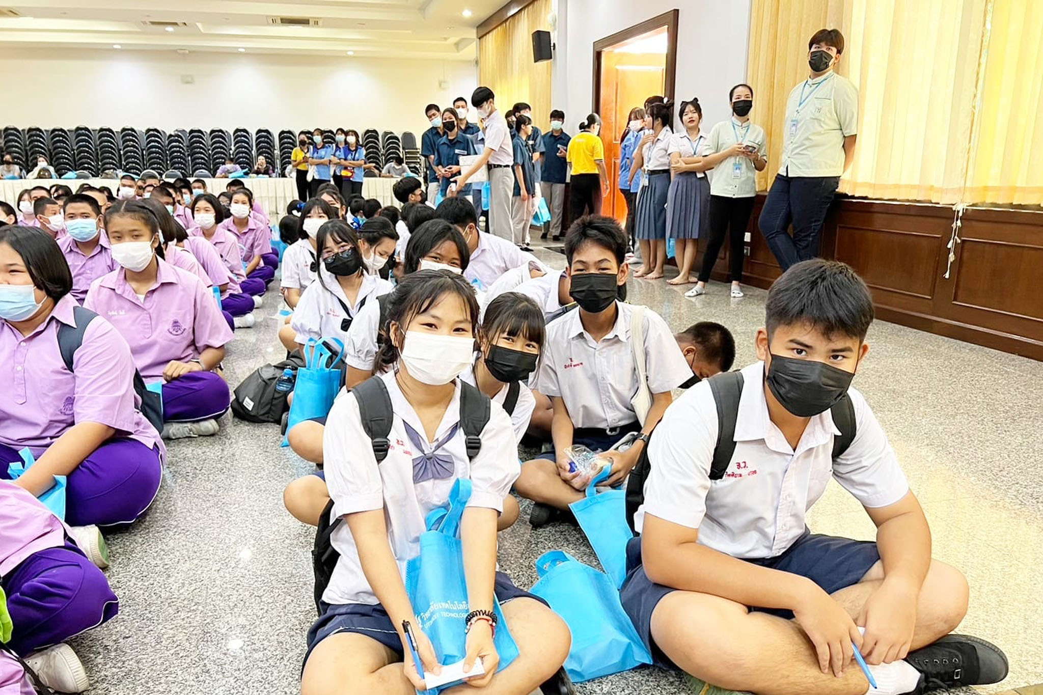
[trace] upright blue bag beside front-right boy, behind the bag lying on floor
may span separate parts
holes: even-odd
[[[598,492],[596,486],[612,471],[602,469],[586,490],[586,497],[568,508],[576,515],[590,547],[616,589],[627,578],[627,541],[634,537],[627,523],[627,493],[624,490]]]

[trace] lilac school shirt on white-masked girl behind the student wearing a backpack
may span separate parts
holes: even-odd
[[[164,260],[145,299],[138,298],[120,268],[91,286],[83,305],[126,339],[146,381],[162,380],[171,361],[190,362],[232,340],[213,294],[199,278]]]

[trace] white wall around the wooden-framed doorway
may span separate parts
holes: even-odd
[[[680,8],[676,100],[698,97],[707,129],[731,114],[728,90],[746,79],[750,0],[557,0],[557,5],[553,101],[564,108],[567,123],[590,113],[593,42],[674,8]]]

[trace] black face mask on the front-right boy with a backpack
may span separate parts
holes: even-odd
[[[772,354],[767,380],[782,407],[798,418],[810,418],[835,405],[853,377],[852,372],[824,362]]]

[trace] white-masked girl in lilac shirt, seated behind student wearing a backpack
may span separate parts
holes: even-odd
[[[146,383],[163,384],[165,438],[216,435],[231,397],[214,370],[233,333],[213,293],[163,258],[160,221],[144,201],[113,205],[105,229],[122,268],[96,280],[83,305],[123,336]]]

